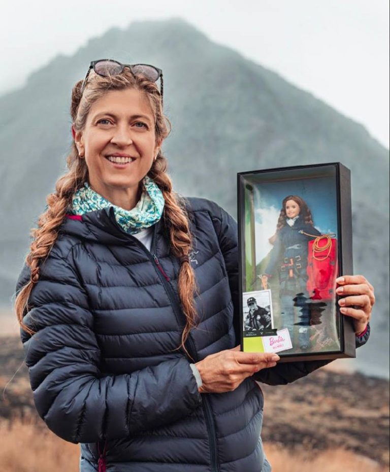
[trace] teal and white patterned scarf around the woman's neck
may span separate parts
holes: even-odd
[[[141,198],[132,210],[124,210],[96,193],[88,184],[79,188],[72,198],[72,213],[84,215],[95,210],[113,207],[115,219],[121,228],[129,234],[135,234],[156,223],[163,214],[164,196],[157,184],[148,176],[143,181]]]

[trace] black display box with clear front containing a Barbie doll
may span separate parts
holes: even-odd
[[[352,272],[350,171],[340,162],[238,174],[241,349],[281,362],[355,357],[340,314]]]

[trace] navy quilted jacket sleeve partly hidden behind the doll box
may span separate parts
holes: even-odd
[[[240,314],[239,314],[239,280],[238,280],[238,234],[236,221],[220,209],[220,215],[215,218],[215,226],[219,231],[219,245],[225,260],[229,275],[230,288],[234,305],[234,325],[236,330],[236,345],[240,343]],[[218,232],[217,232],[218,234]],[[363,346],[368,341],[370,326],[364,336],[356,336],[356,347]],[[300,361],[279,363],[275,367],[260,370],[253,375],[255,380],[270,385],[283,385],[304,377],[314,370],[329,364],[331,360]]]

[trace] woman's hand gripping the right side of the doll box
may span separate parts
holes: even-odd
[[[355,333],[362,333],[370,321],[372,307],[375,303],[374,287],[362,275],[342,276],[336,279],[339,285],[336,293],[339,299],[340,312],[353,318]]]

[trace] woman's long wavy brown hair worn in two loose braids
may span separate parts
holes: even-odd
[[[116,76],[101,77],[91,72],[87,85],[81,97],[82,80],[78,81],[72,90],[71,117],[74,131],[84,128],[89,110],[94,102],[110,90],[136,89],[145,94],[149,100],[155,118],[155,138],[165,139],[170,132],[169,120],[162,110],[161,94],[155,83],[145,77],[134,76],[127,69]],[[39,281],[39,268],[48,257],[53,247],[58,230],[69,209],[72,207],[72,197],[75,191],[88,181],[88,168],[85,159],[80,158],[75,141],[67,158],[68,172],[61,176],[56,184],[55,191],[47,198],[47,209],[38,219],[38,228],[31,229],[33,241],[25,263],[30,268],[30,280],[18,292],[15,299],[15,311],[21,328],[29,334],[35,331],[23,323],[23,316],[28,312],[28,298],[34,285]],[[172,189],[172,181],[167,174],[167,159],[159,150],[156,159],[148,172],[165,199],[163,219],[169,231],[171,252],[180,260],[178,276],[178,292],[183,312],[186,317],[181,345],[185,348],[185,341],[189,331],[197,325],[198,314],[194,304],[194,294],[198,292],[196,279],[189,261],[192,248],[192,238],[189,230],[188,214],[185,209],[185,200]]]

